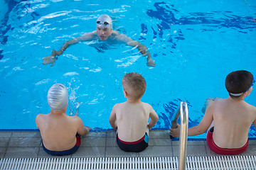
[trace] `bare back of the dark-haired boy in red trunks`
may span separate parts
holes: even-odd
[[[248,132],[255,123],[256,108],[245,101],[226,98],[213,102],[213,140],[218,147],[240,148],[248,139]]]

